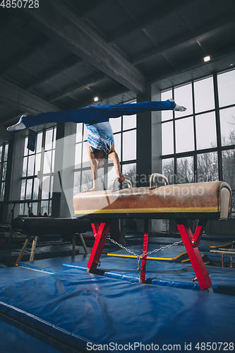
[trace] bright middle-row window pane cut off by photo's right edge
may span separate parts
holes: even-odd
[[[220,128],[222,146],[235,144],[235,107],[228,109],[221,109],[220,115]]]

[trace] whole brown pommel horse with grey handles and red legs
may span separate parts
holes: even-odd
[[[161,178],[164,185],[155,186],[155,178]],[[231,205],[231,188],[224,181],[169,185],[162,174],[154,173],[150,177],[150,187],[115,189],[78,193],[73,196],[76,215],[90,217],[95,244],[88,261],[88,272],[97,268],[104,243],[114,218],[145,219],[143,254],[147,253],[148,220],[175,219],[181,239],[193,266],[196,278],[202,290],[213,292],[212,282],[198,250],[207,220],[226,220]],[[101,223],[98,220],[102,220]],[[194,234],[188,220],[199,220]],[[147,256],[143,255],[141,280],[145,282]]]

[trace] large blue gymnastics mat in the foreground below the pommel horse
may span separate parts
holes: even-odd
[[[8,268],[2,271],[7,273]],[[143,350],[140,344],[146,350],[150,345],[159,350],[180,345],[183,352],[189,345],[191,352],[198,352],[198,342],[230,342],[230,347],[235,343],[235,297],[143,285],[76,269],[27,276],[0,287],[1,337],[8,323],[29,340],[34,337],[68,353],[98,350],[95,345],[118,352],[113,344],[135,345],[135,352]],[[32,352],[27,349],[22,352]]]

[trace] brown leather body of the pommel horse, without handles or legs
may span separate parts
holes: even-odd
[[[227,219],[231,188],[224,181],[94,191],[73,196],[76,215],[92,218]]]

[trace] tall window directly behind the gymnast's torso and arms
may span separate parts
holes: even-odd
[[[114,132],[114,146],[119,155],[121,172],[131,179],[133,186],[135,186],[136,115],[109,119],[109,122]],[[87,140],[88,130],[86,126],[84,124],[77,124],[74,193],[80,193],[92,187]],[[105,160],[103,167],[98,169],[99,190],[111,189],[112,181],[115,178],[116,171],[112,160]]]

